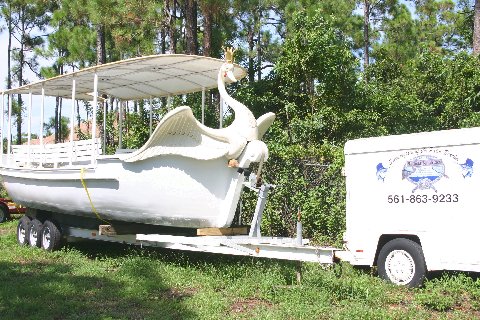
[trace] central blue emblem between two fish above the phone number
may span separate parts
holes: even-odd
[[[435,189],[434,184],[445,174],[445,165],[442,159],[430,155],[415,157],[405,163],[402,170],[402,179],[407,179],[415,185],[412,193],[417,190]]]

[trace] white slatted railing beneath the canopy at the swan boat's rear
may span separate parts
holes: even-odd
[[[93,147],[93,148],[92,148]],[[10,165],[16,167],[58,168],[91,161],[102,154],[99,138],[45,145],[12,145]]]

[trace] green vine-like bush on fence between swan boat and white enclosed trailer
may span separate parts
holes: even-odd
[[[273,236],[295,236],[300,212],[304,237],[338,243],[345,229],[343,149],[330,143],[303,146],[282,140],[268,142],[270,156],[262,176],[276,187],[269,194],[262,229]],[[255,201],[254,195],[244,199],[249,212]]]

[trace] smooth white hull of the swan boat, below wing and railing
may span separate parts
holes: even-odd
[[[1,174],[9,195],[28,208],[96,217],[93,205],[105,220],[190,228],[229,226],[244,181],[224,158],[169,155],[133,163],[98,159],[83,174],[8,167]]]

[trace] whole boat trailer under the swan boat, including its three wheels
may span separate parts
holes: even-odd
[[[45,215],[45,213],[36,214],[34,212],[30,215],[31,217],[27,213],[26,219],[22,219],[19,222],[17,239],[27,239],[26,241],[19,240],[19,243],[22,245],[28,244],[27,242],[29,242],[31,246],[43,247],[46,250],[55,250],[59,248],[59,244],[52,243],[51,240],[56,240],[54,236],[58,231],[61,232],[61,238],[67,240],[91,239],[132,244],[140,247],[160,247],[172,250],[317,262],[320,264],[332,264],[334,262],[335,252],[339,249],[310,245],[310,241],[303,239],[301,235],[302,228],[300,222],[298,222],[297,225],[298,234],[296,238],[262,236],[261,220],[263,211],[266,206],[268,193],[275,186],[264,183],[257,187],[249,181],[245,182],[244,186],[258,194],[248,235],[185,236],[151,233],[116,234],[115,232],[106,232],[105,230],[108,228],[105,227],[109,226],[105,225],[101,225],[99,229],[96,230],[68,224],[60,226],[58,223],[56,224],[57,230],[55,230],[55,225],[52,224],[55,221],[55,213],[52,212]],[[29,223],[26,222],[28,219],[30,219]],[[43,227],[42,230],[35,231],[32,229],[32,226],[38,225],[37,221],[41,222],[43,226],[48,224],[49,227]],[[28,225],[26,225],[26,223],[28,223]],[[46,233],[48,234],[45,235]],[[19,235],[22,235],[22,237],[19,237]]]

